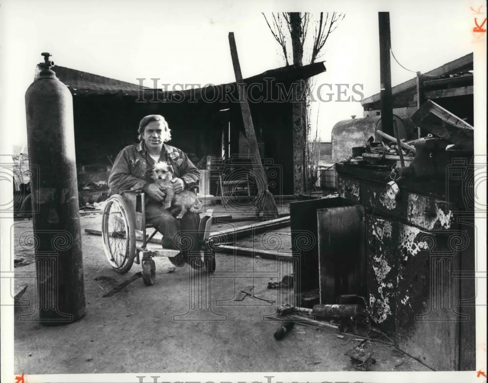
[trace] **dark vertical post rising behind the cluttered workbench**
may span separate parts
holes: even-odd
[[[381,130],[390,136],[393,132],[393,100],[391,96],[391,65],[390,65],[390,13],[378,12],[380,32],[380,105]]]

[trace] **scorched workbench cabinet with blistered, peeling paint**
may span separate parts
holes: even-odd
[[[387,170],[336,169],[339,196],[366,209],[366,300],[375,323],[436,370],[474,369],[474,225],[459,185],[399,181],[395,196]]]

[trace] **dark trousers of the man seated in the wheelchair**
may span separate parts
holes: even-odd
[[[163,234],[164,248],[181,250],[185,259],[188,253],[200,254],[200,214],[187,210],[182,219],[176,219],[161,202],[148,202],[145,210],[146,222]]]

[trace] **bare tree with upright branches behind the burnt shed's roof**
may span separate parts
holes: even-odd
[[[318,18],[311,13],[284,12],[273,13],[271,18],[263,13],[264,20],[271,34],[282,50],[285,64],[289,65],[291,53],[294,65],[302,66],[304,61],[311,64],[317,62],[325,54],[325,43],[330,34],[337,29],[339,22],[346,17],[343,13],[321,12]],[[312,33],[311,46],[307,44],[307,35]],[[291,50],[290,50],[291,47]],[[308,48],[308,49],[307,49]],[[304,52],[306,58],[304,60]],[[304,98],[293,103],[293,166],[294,192],[300,194],[314,188],[318,177],[320,143],[318,142],[318,126],[310,141],[312,123],[310,119],[311,101],[307,97],[314,87],[310,79],[298,81],[297,93]]]

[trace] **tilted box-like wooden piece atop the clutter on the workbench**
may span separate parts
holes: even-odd
[[[434,101],[424,102],[411,119],[428,133],[461,149],[472,150],[474,147],[474,128]]]

